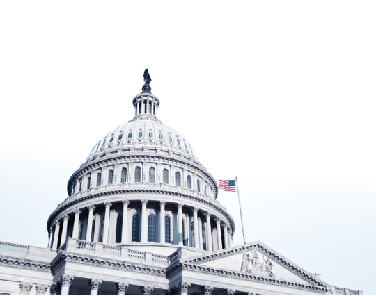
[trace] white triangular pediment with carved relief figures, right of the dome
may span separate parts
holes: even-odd
[[[200,265],[203,268],[224,270],[239,274],[273,279],[281,283],[299,283],[309,286],[328,287],[318,277],[276,253],[262,242],[231,247],[201,256],[180,260],[180,263]]]

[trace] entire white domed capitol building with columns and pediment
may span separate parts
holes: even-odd
[[[0,242],[0,295],[362,294],[263,242],[234,246],[217,180],[159,120],[147,69],[143,77],[134,118],[93,143],[70,176],[48,247]]]

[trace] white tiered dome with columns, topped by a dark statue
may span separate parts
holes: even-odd
[[[187,139],[158,119],[150,81],[132,100],[134,118],[100,138],[70,177],[68,197],[47,222],[52,249],[67,237],[135,249],[151,244],[166,254],[178,246],[231,246],[235,225],[217,202],[217,181]]]

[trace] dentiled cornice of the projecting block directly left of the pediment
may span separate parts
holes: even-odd
[[[109,268],[113,270],[125,270],[139,272],[141,274],[150,274],[157,277],[166,277],[166,268],[157,268],[155,266],[131,263],[127,261],[111,260],[100,256],[87,256],[85,254],[61,252],[51,263],[52,270],[57,270],[64,263],[77,263],[91,265],[98,268]]]

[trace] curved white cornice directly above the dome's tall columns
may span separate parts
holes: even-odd
[[[230,214],[228,214],[225,211],[224,208],[218,206],[217,204],[214,204],[214,202],[212,202],[212,200],[202,199],[201,197],[196,197],[196,196],[193,196],[193,195],[187,195],[187,194],[182,193],[182,192],[174,192],[174,191],[169,191],[169,190],[159,190],[157,188],[155,190],[153,190],[153,189],[141,189],[141,188],[140,189],[124,189],[124,187],[123,187],[123,189],[120,189],[120,186],[121,186],[121,184],[119,184],[118,188],[113,188],[113,189],[107,188],[107,191],[104,191],[104,192],[97,192],[97,193],[92,192],[92,194],[80,196],[80,197],[77,197],[77,198],[72,197],[71,199],[68,199],[65,202],[65,204],[64,204],[64,202],[61,203],[58,206],[58,208],[56,208],[55,211],[51,215],[49,215],[47,225],[51,224],[52,220],[54,220],[54,217],[58,213],[61,213],[65,208],[69,208],[70,206],[84,202],[85,200],[90,200],[90,199],[93,199],[95,197],[105,197],[107,195],[118,195],[118,194],[127,194],[127,193],[152,193],[152,194],[172,195],[172,196],[176,196],[176,197],[182,197],[182,198],[185,198],[185,199],[191,199],[194,202],[200,202],[202,204],[205,204],[206,206],[210,206],[211,208],[214,208],[214,210],[221,213],[221,215],[226,217],[226,219],[228,221],[230,221],[230,229],[228,229],[228,230],[231,231],[232,233],[235,231],[235,223],[233,221],[233,217],[231,217]]]

